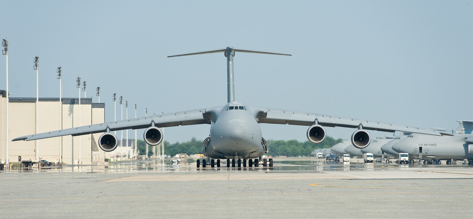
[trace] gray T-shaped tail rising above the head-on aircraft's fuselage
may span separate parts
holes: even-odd
[[[215,53],[215,52],[224,52],[225,57],[227,57],[227,92],[228,92],[227,101],[228,102],[235,101],[235,84],[234,84],[234,78],[233,78],[233,57],[235,56],[235,52],[250,52],[250,53],[260,53],[260,54],[270,54],[270,55],[292,56],[292,55],[284,54],[284,53],[244,50],[244,49],[236,49],[231,46],[228,46],[225,49],[185,53],[185,54],[179,54],[179,55],[174,55],[174,56],[168,56],[168,58],[177,57],[177,56],[200,55],[200,54]]]

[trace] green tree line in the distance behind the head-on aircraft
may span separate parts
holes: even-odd
[[[288,157],[297,157],[297,156],[311,156],[311,152],[315,149],[320,148],[331,148],[333,145],[342,142],[343,139],[334,139],[333,137],[327,136],[322,143],[311,143],[309,141],[299,142],[297,140],[266,140],[268,144],[269,153],[267,155],[271,156],[288,156]],[[164,141],[164,153],[167,155],[174,156],[178,153],[186,153],[187,155],[199,154],[202,152],[202,142],[203,140],[197,140],[193,137],[190,141],[187,142],[176,142],[169,143]],[[148,156],[153,155],[152,149],[153,146],[148,146],[149,152]],[[146,154],[146,144],[143,140],[138,140],[138,150],[140,155],[144,156]]]

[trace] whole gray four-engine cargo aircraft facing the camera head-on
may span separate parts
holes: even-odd
[[[163,141],[163,133],[159,127],[210,124],[210,137],[206,138],[203,143],[208,158],[207,160],[202,160],[202,167],[205,167],[209,163],[211,167],[214,167],[215,161],[210,160],[210,158],[227,159],[227,167],[229,167],[230,164],[229,159],[232,159],[232,167],[235,167],[236,161],[238,162],[238,167],[240,167],[241,159],[243,159],[243,167],[246,166],[246,161],[248,161],[248,166],[251,167],[253,165],[258,166],[259,164],[263,164],[263,166],[269,164],[272,166],[271,159],[261,160],[263,153],[268,152],[268,147],[261,134],[261,128],[258,123],[309,126],[306,135],[307,139],[312,143],[321,143],[324,141],[326,136],[324,126],[358,128],[358,130],[351,135],[351,143],[357,148],[365,148],[370,143],[371,137],[366,130],[384,132],[403,131],[428,135],[450,135],[447,132],[432,129],[399,126],[391,123],[335,117],[292,110],[255,107],[248,106],[243,102],[235,101],[233,58],[236,52],[290,56],[289,54],[227,47],[224,49],[193,52],[168,57],[215,52],[223,52],[225,57],[227,57],[228,101],[224,106],[193,109],[142,118],[132,118],[90,126],[80,126],[41,134],[26,135],[15,138],[13,141],[30,141],[63,135],[77,136],[103,132],[104,134],[102,134],[98,139],[98,145],[103,151],[111,152],[117,147],[117,138],[112,134],[112,131],[146,128],[143,133],[144,141],[149,145],[158,145]],[[199,166],[200,160],[197,161],[197,167]],[[219,166],[220,160],[217,160],[217,167]]]

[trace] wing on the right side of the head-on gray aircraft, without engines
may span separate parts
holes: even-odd
[[[384,122],[375,122],[370,120],[356,119],[356,118],[346,118],[346,117],[336,117],[323,114],[307,113],[307,112],[298,112],[292,110],[283,110],[283,109],[272,109],[272,108],[262,108],[262,107],[249,107],[250,109],[258,112],[256,118],[258,118],[258,123],[272,123],[272,124],[289,124],[289,125],[298,125],[298,126],[312,126],[314,125],[315,119],[318,120],[318,124],[321,126],[328,127],[348,127],[348,128],[357,128],[359,124],[363,126],[363,129],[383,131],[383,132],[411,132],[427,135],[451,135],[447,131],[439,131],[427,128],[418,128],[412,126],[401,126],[391,123]]]

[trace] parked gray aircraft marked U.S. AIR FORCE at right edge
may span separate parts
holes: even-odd
[[[419,156],[419,147],[422,147],[422,158],[438,163],[439,160],[447,160],[450,164],[454,160],[470,160],[468,164],[473,164],[473,130],[472,120],[459,120],[460,123],[455,136],[432,136],[412,134],[394,143],[392,149],[399,153],[409,153],[414,157]],[[430,161],[428,161],[430,162]]]

